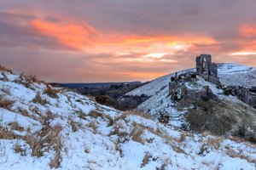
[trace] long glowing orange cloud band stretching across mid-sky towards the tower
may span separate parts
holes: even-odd
[[[86,48],[90,53],[173,53],[177,50],[187,50],[196,43],[216,43],[212,37],[195,35],[179,37],[106,34],[96,31],[93,26],[87,24],[62,24],[44,20],[33,20],[32,26],[46,36],[55,37],[69,48]]]

